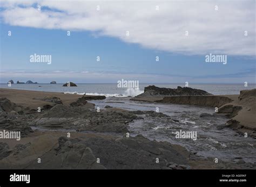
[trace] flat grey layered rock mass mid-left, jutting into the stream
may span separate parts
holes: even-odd
[[[86,102],[86,100],[84,100]],[[87,104],[87,103],[86,103]],[[87,109],[81,106],[55,105],[31,121],[30,125],[51,129],[75,129],[79,131],[96,132],[129,132],[129,123],[143,119],[140,115],[151,117],[168,117],[161,112],[154,111],[118,111],[114,109]]]

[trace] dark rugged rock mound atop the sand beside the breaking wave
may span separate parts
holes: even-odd
[[[207,96],[207,95],[212,95],[212,94],[204,90],[198,90],[198,89],[193,89],[188,87],[184,87],[184,88],[177,87],[177,89],[172,89],[172,88],[159,88],[154,85],[150,85],[144,88],[144,93],[136,96],[135,98],[149,97],[149,96],[163,97],[163,96]]]

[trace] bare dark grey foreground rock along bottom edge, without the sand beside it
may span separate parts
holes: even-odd
[[[58,145],[41,156],[44,162],[33,161],[26,169],[170,169],[170,162],[186,165],[182,168],[186,169],[188,163],[170,143],[151,141],[142,135],[118,139],[62,136]]]

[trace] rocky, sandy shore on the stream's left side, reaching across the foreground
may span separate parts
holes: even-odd
[[[149,140],[142,135],[132,137],[129,123],[143,120],[143,116],[174,119],[154,111],[127,111],[115,107],[98,111],[89,100],[105,99],[104,96],[1,89],[0,98],[0,130],[21,131],[22,136],[21,141],[1,139],[2,169],[256,167],[256,163],[245,163],[242,158],[214,163],[214,158],[198,156],[179,145]],[[248,93],[242,92],[240,98],[240,103],[245,102]],[[232,116],[236,110],[228,114]],[[227,111],[231,111],[229,106],[220,107],[220,113],[227,115]]]

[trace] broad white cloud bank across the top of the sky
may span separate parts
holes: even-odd
[[[35,3],[41,5],[38,11]],[[32,7],[34,5],[34,7]],[[96,10],[96,6],[100,10]],[[156,10],[159,5],[159,11]],[[215,10],[215,5],[218,10]],[[255,55],[255,1],[3,1],[10,25],[97,31],[157,51]],[[47,9],[45,9],[47,8]],[[57,10],[57,11],[56,11]],[[126,31],[130,36],[126,37]],[[188,36],[185,32],[188,31]],[[248,36],[244,36],[244,32]]]

